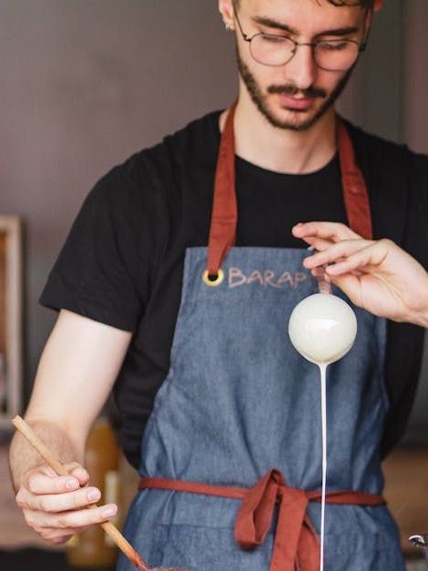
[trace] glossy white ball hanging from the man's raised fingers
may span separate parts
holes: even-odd
[[[308,361],[329,364],[352,348],[357,319],[346,301],[315,293],[298,303],[290,315],[291,343]]]

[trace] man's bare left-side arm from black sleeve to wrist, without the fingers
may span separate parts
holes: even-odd
[[[61,311],[39,363],[25,420],[63,464],[82,464],[87,434],[105,403],[131,333]],[[10,450],[17,489],[25,473],[45,464],[16,434]]]

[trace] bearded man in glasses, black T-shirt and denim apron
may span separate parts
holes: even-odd
[[[421,360],[423,331],[399,321],[428,324],[428,159],[333,107],[379,7],[219,0],[237,105],[90,193],[42,295],[61,311],[26,413],[71,475],[55,477],[19,437],[11,449],[16,501],[51,543],[116,513],[83,509],[99,492],[72,464],[114,388],[141,474],[126,535],[151,565],[318,568],[319,380],[287,322],[316,290],[308,270],[329,263],[360,307],[355,346],[329,372],[325,565],[404,569],[380,460],[403,433]]]

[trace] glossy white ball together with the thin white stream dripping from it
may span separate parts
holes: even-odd
[[[352,348],[357,335],[357,319],[341,298],[315,293],[301,301],[291,313],[290,341],[305,359],[317,364],[321,377],[321,552],[320,571],[324,569],[325,490],[327,482],[327,365],[338,361]]]

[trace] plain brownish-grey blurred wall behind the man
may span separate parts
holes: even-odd
[[[341,101],[358,124],[424,152],[427,29],[426,0],[385,0]],[[216,0],[0,0],[0,54],[0,212],[25,219],[28,393],[55,319],[37,298],[87,191],[139,148],[229,105],[233,36]],[[428,433],[427,371],[410,441]]]

